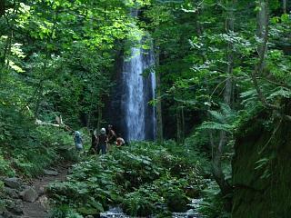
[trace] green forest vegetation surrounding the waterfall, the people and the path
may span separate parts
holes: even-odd
[[[289,217],[290,12],[288,0],[0,0],[0,217],[6,178],[63,163],[66,181],[45,188],[52,218],[112,205],[171,217],[197,198],[206,217]],[[155,54],[142,76],[156,74],[156,139],[76,153],[73,130],[87,151],[115,119],[138,46]]]

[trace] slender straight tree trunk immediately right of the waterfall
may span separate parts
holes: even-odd
[[[159,48],[156,47],[156,69],[159,66]],[[156,70],[156,123],[157,123],[157,141],[163,142],[163,117],[162,117],[162,92],[161,92],[161,74]]]

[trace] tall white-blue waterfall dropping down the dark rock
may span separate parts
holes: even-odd
[[[140,42],[141,44],[142,42]],[[154,139],[156,136],[156,112],[148,102],[155,97],[156,76],[142,74],[155,64],[153,50],[141,46],[131,48],[131,56],[123,64],[125,114],[125,138],[128,141]]]

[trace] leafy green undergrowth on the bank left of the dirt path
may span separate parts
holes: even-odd
[[[55,161],[76,160],[73,137],[61,128],[16,113],[2,116],[0,125],[1,176],[35,177]]]

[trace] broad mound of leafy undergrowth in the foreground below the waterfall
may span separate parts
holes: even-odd
[[[47,188],[55,203],[51,217],[67,217],[72,209],[75,214],[96,214],[109,205],[121,205],[132,216],[185,212],[190,199],[200,197],[205,188],[205,163],[204,157],[174,142],[135,143],[84,157],[66,182]]]

